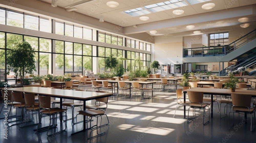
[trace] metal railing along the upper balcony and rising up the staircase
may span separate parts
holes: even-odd
[[[256,38],[256,29],[244,35],[243,37],[237,39],[236,41],[224,45],[224,46],[214,46],[214,47],[198,47],[183,49],[183,57],[202,57],[202,56],[219,56],[227,55],[228,53],[238,49],[244,44],[252,41]]]

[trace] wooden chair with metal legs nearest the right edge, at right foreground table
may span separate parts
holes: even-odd
[[[254,108],[250,108],[252,95],[231,94],[231,99],[232,99],[232,104],[233,104],[233,106],[232,106],[233,111],[229,112],[229,115],[230,115],[230,113],[233,113],[232,126],[234,125],[234,113],[250,114],[251,115],[251,131],[253,131],[254,127],[255,127],[255,125],[254,125],[255,124],[255,112],[254,112]],[[254,113],[254,119],[252,120],[253,113]],[[253,129],[252,129],[252,122],[253,122]],[[230,130],[230,128],[229,128],[229,130]]]

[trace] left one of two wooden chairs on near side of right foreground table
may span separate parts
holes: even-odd
[[[192,120],[194,120],[194,112],[193,112],[193,118],[189,119],[189,109],[193,108],[193,109],[203,109],[203,125],[206,125],[207,123],[209,123],[210,121],[210,112],[209,112],[209,106],[207,106],[206,103],[203,103],[203,97],[204,97],[204,92],[193,92],[193,91],[188,91],[188,106],[190,106],[188,108],[188,118],[187,118],[187,123]],[[205,116],[205,108],[208,107],[208,118],[209,120],[207,122],[204,123],[204,116]]]

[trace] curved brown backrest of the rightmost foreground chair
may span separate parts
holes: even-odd
[[[231,94],[231,99],[234,106],[250,107],[252,95]]]

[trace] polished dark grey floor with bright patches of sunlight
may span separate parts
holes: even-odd
[[[94,103],[89,101],[88,104]],[[123,99],[122,97],[109,98],[106,114],[110,123],[99,131],[106,131],[104,135],[87,139],[86,132],[71,136],[71,133],[82,129],[82,123],[72,126],[68,121],[66,132],[47,136],[46,132],[36,133],[36,126],[19,128],[18,126],[7,127],[8,139],[4,139],[4,119],[0,120],[0,142],[1,143],[25,143],[25,142],[52,142],[52,143],[74,143],[74,142],[102,142],[102,143],[148,143],[148,142],[255,142],[256,134],[250,131],[250,120],[244,122],[243,115],[235,115],[235,126],[229,131],[232,117],[220,119],[217,104],[214,103],[214,117],[210,123],[202,125],[202,110],[194,121],[187,124],[187,120],[173,118],[176,108],[176,93],[156,91],[152,99]],[[2,108],[2,105],[0,106]],[[77,108],[76,111],[80,110]],[[188,108],[186,108],[186,111]],[[192,110],[191,110],[192,111]],[[228,110],[229,111],[229,110]],[[208,120],[208,111],[206,112]],[[3,112],[1,116],[3,117]],[[182,117],[183,107],[180,106],[176,112],[177,117]],[[192,115],[192,114],[190,114]],[[197,114],[198,115],[198,114]],[[68,118],[71,110],[68,110]],[[249,117],[249,116],[248,116]],[[80,116],[78,120],[80,120]],[[238,120],[239,118],[239,120]],[[36,117],[34,120],[38,120]],[[102,117],[102,124],[106,118]],[[37,121],[35,121],[37,122]],[[95,122],[95,120],[94,120]],[[9,123],[8,126],[13,123]],[[30,124],[30,123],[28,123]],[[45,117],[42,125],[49,124]],[[58,127],[59,127],[58,122]],[[58,128],[59,129],[59,128]],[[95,134],[96,130],[89,131],[89,135]]]

